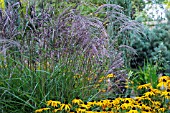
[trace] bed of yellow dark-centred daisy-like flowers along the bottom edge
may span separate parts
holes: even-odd
[[[60,101],[47,101],[46,108],[37,109],[36,113],[43,111],[70,112],[70,113],[168,113],[170,111],[170,77],[159,78],[157,89],[152,84],[137,87],[138,90],[147,89],[141,96],[134,98],[103,99],[99,101],[84,102],[75,98],[71,103]],[[161,87],[164,87],[163,89]]]

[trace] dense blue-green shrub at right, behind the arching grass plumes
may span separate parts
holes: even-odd
[[[167,12],[167,19],[168,12]],[[149,60],[153,64],[158,63],[160,67],[167,70],[170,67],[170,28],[169,23],[159,23],[155,25],[151,30],[145,28],[144,32],[146,36],[139,36],[137,40],[132,35],[131,46],[137,50],[138,55],[132,60],[132,67],[143,66],[146,60]]]

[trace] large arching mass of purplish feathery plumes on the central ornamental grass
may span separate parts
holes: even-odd
[[[106,8],[109,10],[105,10]],[[120,70],[124,66],[121,48],[126,48],[135,54],[136,51],[128,45],[119,45],[118,38],[128,32],[138,35],[143,34],[142,25],[129,19],[129,17],[123,14],[122,7],[115,4],[100,6],[94,14],[99,13],[106,14],[105,18],[83,16],[75,8],[66,9],[58,17],[57,34],[59,39],[56,47],[62,46],[62,50],[59,51],[61,56],[64,51],[67,54],[72,54],[72,52],[81,54],[83,52],[89,58],[95,56],[96,62],[101,64],[105,62],[105,59],[109,59],[110,64],[106,74],[114,73],[117,75],[117,78],[112,82],[125,82],[127,74],[125,71]],[[107,25],[105,26],[104,23],[107,23]],[[111,26],[117,27],[116,29],[111,29],[111,33],[116,32],[114,37],[111,37],[112,34],[107,30]],[[128,40],[128,37],[121,38]],[[121,91],[122,86],[116,86],[116,89],[119,89],[119,91],[115,90],[115,92],[124,92]],[[115,88],[115,85],[113,87]]]

